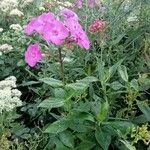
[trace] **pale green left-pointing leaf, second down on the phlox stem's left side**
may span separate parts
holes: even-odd
[[[57,108],[63,106],[65,103],[64,99],[50,97],[44,101],[42,101],[38,107],[42,108]]]

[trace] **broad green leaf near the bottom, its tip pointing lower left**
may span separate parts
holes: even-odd
[[[55,121],[52,124],[49,124],[44,133],[53,133],[58,134],[68,128],[68,120],[67,119],[61,119],[58,121]]]

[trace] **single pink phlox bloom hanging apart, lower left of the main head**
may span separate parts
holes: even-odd
[[[30,67],[34,67],[42,60],[42,53],[38,44],[30,44],[25,52],[25,61]]]

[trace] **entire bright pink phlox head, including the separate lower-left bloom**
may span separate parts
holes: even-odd
[[[90,42],[79,23],[76,13],[69,9],[63,9],[60,12],[63,20],[56,19],[51,12],[43,13],[33,18],[24,28],[27,35],[34,32],[38,33],[47,43],[62,45],[67,43],[76,43],[81,48],[89,49]],[[34,59],[34,60],[32,60]],[[25,61],[29,66],[34,67],[42,59],[39,46],[30,45],[25,53]]]

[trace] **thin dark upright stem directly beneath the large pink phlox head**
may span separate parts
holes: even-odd
[[[60,62],[61,77],[62,77],[63,83],[65,84],[64,63],[63,63],[63,60],[62,60],[61,47],[58,48],[58,52],[59,52],[59,62]]]

